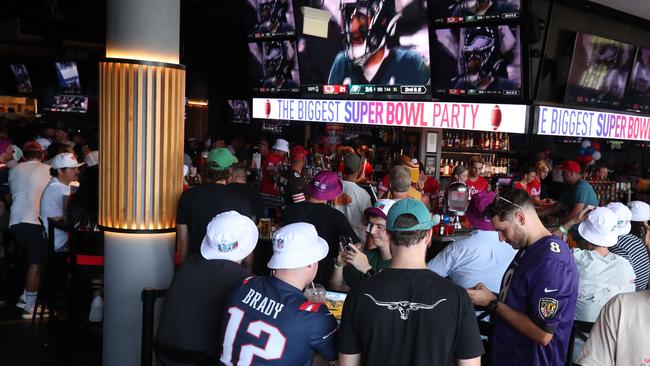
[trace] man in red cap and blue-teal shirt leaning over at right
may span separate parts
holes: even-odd
[[[575,161],[569,160],[564,162],[560,167],[562,169],[562,179],[565,189],[562,191],[560,200],[554,205],[542,210],[540,216],[557,214],[562,210],[567,213],[560,218],[559,232],[557,234],[568,233],[568,228],[564,226],[570,220],[578,217],[580,212],[585,208],[598,207],[598,197],[594,188],[586,180],[582,179],[582,167]]]

